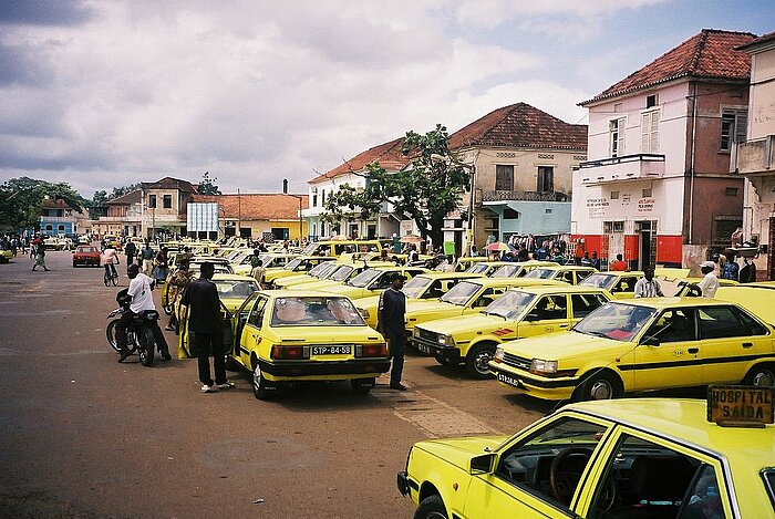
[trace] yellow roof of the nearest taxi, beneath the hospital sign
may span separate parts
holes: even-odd
[[[575,403],[562,409],[589,413],[658,436],[693,444],[727,456],[732,463],[760,468],[773,464],[774,425],[764,428],[721,427],[707,422],[706,404],[702,399],[620,398]]]

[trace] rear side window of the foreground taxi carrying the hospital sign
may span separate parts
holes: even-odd
[[[599,479],[589,518],[675,518],[684,500],[691,501],[705,467],[671,448],[623,435]],[[681,513],[684,518],[724,517],[723,511],[720,516]]]

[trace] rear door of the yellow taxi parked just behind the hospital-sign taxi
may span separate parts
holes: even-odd
[[[741,382],[752,359],[772,344],[767,329],[736,307],[701,307],[698,315],[702,384]]]

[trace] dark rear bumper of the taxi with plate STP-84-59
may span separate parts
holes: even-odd
[[[390,370],[386,359],[330,361],[330,362],[268,362],[259,359],[261,371],[269,377],[281,380],[333,380],[353,375],[379,376]]]

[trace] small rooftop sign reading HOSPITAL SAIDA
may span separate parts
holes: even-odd
[[[731,427],[764,427],[775,423],[772,387],[710,386],[707,421]]]

